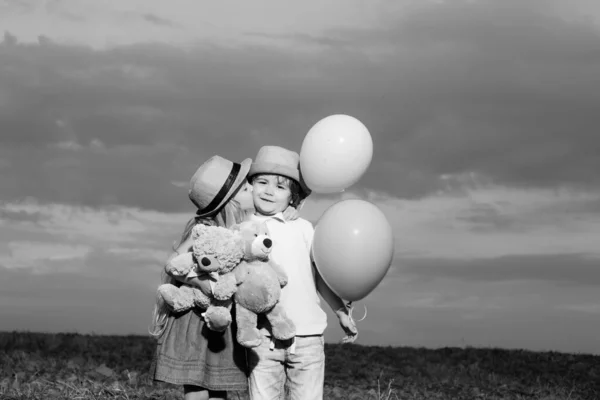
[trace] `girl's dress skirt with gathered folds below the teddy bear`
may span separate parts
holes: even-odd
[[[246,351],[235,339],[235,310],[225,332],[210,330],[201,312],[192,309],[169,315],[158,339],[150,377],[209,390],[247,391]]]

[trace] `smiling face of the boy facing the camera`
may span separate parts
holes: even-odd
[[[258,175],[252,181],[252,198],[258,214],[275,215],[290,205],[292,191],[279,175]]]

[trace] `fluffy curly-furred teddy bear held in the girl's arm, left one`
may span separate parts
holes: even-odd
[[[244,241],[229,229],[197,224],[192,230],[192,252],[173,257],[165,270],[171,276],[210,275],[212,297],[189,285],[163,284],[158,294],[176,312],[198,307],[209,329],[223,332],[231,323],[232,296],[237,289],[234,268],[244,256]]]

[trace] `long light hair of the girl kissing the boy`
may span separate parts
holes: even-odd
[[[239,190],[239,189],[238,189]],[[235,193],[232,197],[235,196]],[[179,242],[173,244],[173,252],[169,259],[174,256],[177,256],[177,248],[184,243],[190,235],[192,234],[192,230],[196,224],[204,224],[210,226],[222,226],[225,228],[231,228],[235,224],[239,224],[246,220],[250,211],[242,209],[240,203],[235,199],[230,199],[216,214],[206,216],[206,217],[197,217],[194,216],[188,220],[183,229],[183,233],[181,234],[181,238]],[[175,278],[169,276],[165,269],[162,270],[162,283],[170,283],[177,287],[181,286],[181,283],[177,281]],[[165,331],[167,325],[167,317],[169,315],[169,307],[165,304],[164,300],[157,293],[156,294],[156,304],[154,305],[154,312],[152,313],[152,323],[148,332],[151,336],[155,338],[159,338],[163,332]]]

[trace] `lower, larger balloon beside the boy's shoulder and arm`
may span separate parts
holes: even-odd
[[[361,300],[375,289],[392,264],[392,227],[374,204],[342,200],[317,222],[312,255],[334,293],[344,300]]]

